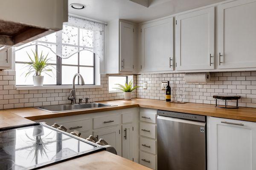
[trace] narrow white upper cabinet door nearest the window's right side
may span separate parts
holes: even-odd
[[[134,26],[120,22],[120,71],[132,72],[134,69]]]

